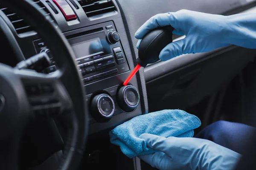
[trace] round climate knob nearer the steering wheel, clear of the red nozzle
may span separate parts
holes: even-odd
[[[98,122],[106,122],[114,114],[115,103],[108,94],[98,94],[93,97],[90,110],[94,119]]]

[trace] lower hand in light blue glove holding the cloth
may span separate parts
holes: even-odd
[[[142,134],[154,154],[139,156],[159,170],[231,170],[241,155],[214,142],[198,138],[164,138]]]

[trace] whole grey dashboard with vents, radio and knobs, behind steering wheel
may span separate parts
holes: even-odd
[[[148,113],[146,81],[168,74],[202,55],[177,57],[175,62],[157,62],[140,70],[128,89],[122,82],[136,64],[134,33],[154,14],[189,9],[212,14],[234,14],[255,6],[254,0],[32,0],[67,38],[83,76],[86,100],[90,101],[90,133],[105,130],[128,119]],[[189,1],[188,1],[189,2]],[[145,4],[147,4],[145,6]],[[148,9],[151,9],[150,11]],[[235,11],[234,11],[235,10]],[[145,12],[146,11],[146,12]],[[18,61],[50,50],[40,35],[15,11],[0,3],[0,19]],[[1,22],[2,22],[1,21]],[[179,38],[175,36],[175,38]],[[58,69],[54,57],[43,72]],[[173,67],[170,67],[172,64]],[[159,67],[161,66],[161,67]],[[162,68],[159,71],[155,69]],[[163,69],[164,68],[164,69]],[[156,74],[157,73],[157,74]],[[145,76],[145,77],[144,77]],[[121,97],[120,97],[121,96]]]

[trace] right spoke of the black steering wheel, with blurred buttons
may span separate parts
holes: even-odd
[[[32,70],[15,70],[26,91],[31,113],[37,117],[55,117],[70,111],[72,102],[60,78],[62,73],[42,74]]]

